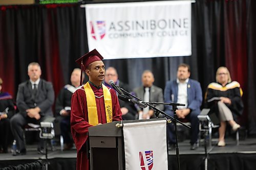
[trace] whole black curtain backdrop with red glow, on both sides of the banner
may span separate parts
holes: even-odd
[[[41,65],[42,78],[53,82],[55,94],[70,83],[75,60],[88,52],[86,16],[80,4],[0,6],[0,77],[3,91],[14,98],[18,84],[27,80],[27,66]],[[135,88],[143,70],[155,75],[164,89],[176,79],[177,66],[191,66],[191,77],[203,93],[215,81],[219,66],[227,66],[232,80],[240,82],[244,114],[239,122],[256,134],[256,2],[253,0],[197,0],[192,4],[192,56],[104,60],[119,79]],[[202,106],[203,107],[203,106]]]

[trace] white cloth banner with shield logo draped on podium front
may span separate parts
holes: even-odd
[[[168,169],[166,120],[123,124],[126,170]]]

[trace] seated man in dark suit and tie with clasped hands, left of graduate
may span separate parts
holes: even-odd
[[[40,124],[48,116],[52,116],[54,90],[52,83],[40,79],[41,68],[36,62],[28,66],[30,80],[19,84],[17,92],[17,108],[19,112],[11,118],[11,130],[17,141],[16,154],[26,154],[23,138],[24,126],[28,123]],[[43,153],[44,142],[38,143],[38,153]]]

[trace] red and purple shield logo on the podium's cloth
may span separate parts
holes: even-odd
[[[153,151],[145,151],[145,161],[146,161],[146,165],[145,165],[145,161],[144,161],[144,156],[142,152],[139,152],[139,156],[140,156],[140,168],[142,170],[151,170],[153,168]]]

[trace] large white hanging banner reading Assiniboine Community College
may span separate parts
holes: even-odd
[[[87,4],[86,22],[105,59],[191,55],[191,1]]]

